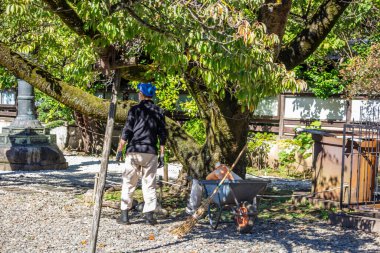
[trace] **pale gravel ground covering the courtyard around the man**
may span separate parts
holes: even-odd
[[[66,158],[66,171],[0,172],[0,252],[87,252],[93,209],[78,194],[92,188],[99,159]],[[120,182],[119,170],[110,164],[109,184]],[[179,166],[169,170],[175,175]],[[169,230],[180,220],[162,219],[151,227],[135,215],[123,226],[117,216],[117,210],[103,208],[98,252],[380,252],[377,234],[322,221],[258,220],[247,235],[232,225],[214,231],[199,224],[176,239]]]

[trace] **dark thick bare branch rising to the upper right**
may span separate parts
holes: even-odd
[[[351,2],[352,0],[328,0],[321,5],[309,25],[281,49],[278,60],[287,69],[293,69],[306,60],[326,38]]]

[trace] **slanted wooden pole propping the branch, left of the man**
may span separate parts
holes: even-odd
[[[91,227],[91,238],[90,238],[90,245],[89,245],[90,246],[89,252],[91,253],[95,253],[96,243],[98,240],[99,221],[100,221],[100,214],[102,211],[104,187],[106,184],[108,158],[111,151],[112,134],[113,134],[113,127],[115,123],[115,113],[116,113],[117,90],[119,89],[119,86],[120,86],[120,70],[115,70],[115,76],[112,82],[111,104],[110,104],[110,109],[108,112],[107,127],[106,127],[106,132],[105,132],[105,137],[104,137],[102,161],[100,164],[98,187],[96,188],[94,213],[93,213],[92,227]]]

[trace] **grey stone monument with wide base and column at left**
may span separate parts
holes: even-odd
[[[34,89],[18,80],[17,117],[0,134],[0,170],[58,170],[67,162],[36,116]]]

